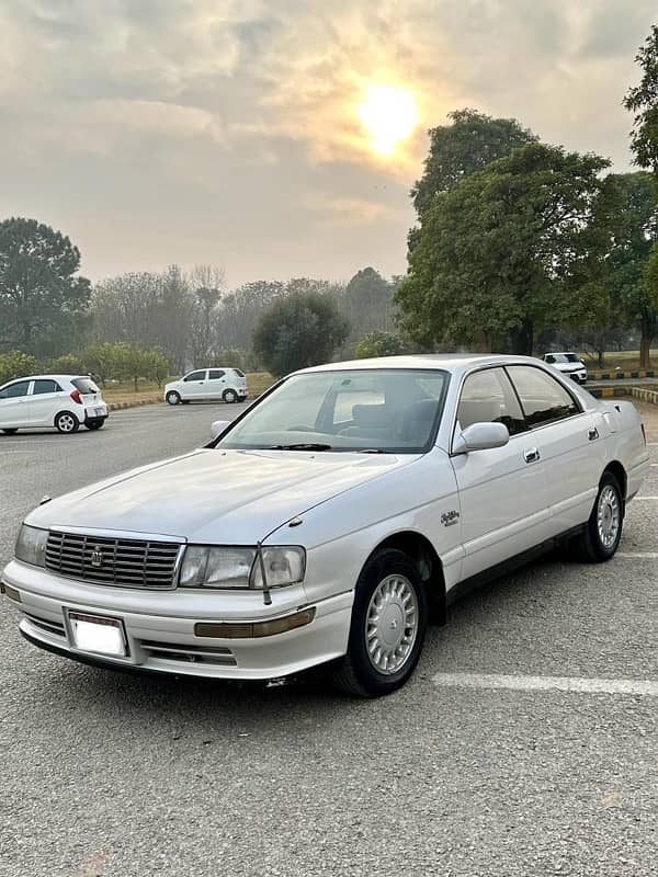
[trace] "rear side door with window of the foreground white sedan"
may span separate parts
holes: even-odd
[[[546,471],[551,535],[585,523],[603,469],[599,431],[592,414],[541,366],[511,365],[508,374],[529,426],[529,444]]]

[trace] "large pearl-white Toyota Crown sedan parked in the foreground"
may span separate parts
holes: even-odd
[[[567,542],[611,558],[649,467],[633,405],[530,357],[309,368],[214,432],[27,515],[2,572],[26,639],[226,679],[330,662],[386,694],[465,589]]]

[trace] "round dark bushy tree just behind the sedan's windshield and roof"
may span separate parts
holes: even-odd
[[[350,324],[336,301],[320,293],[292,293],[262,315],[253,348],[271,374],[330,361],[348,337]]]

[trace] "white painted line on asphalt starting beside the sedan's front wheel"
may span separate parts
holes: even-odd
[[[658,680],[586,679],[582,676],[506,676],[488,673],[436,673],[438,687],[497,688],[515,692],[577,692],[579,694],[633,694],[658,697]]]

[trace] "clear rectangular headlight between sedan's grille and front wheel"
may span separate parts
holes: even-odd
[[[306,566],[304,548],[263,548],[268,588],[282,588],[303,581]],[[185,549],[181,588],[241,588],[262,590],[261,561],[256,548],[190,545]]]

